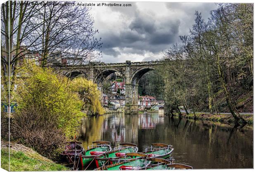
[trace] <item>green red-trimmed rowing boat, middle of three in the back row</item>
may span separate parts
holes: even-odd
[[[123,159],[126,153],[137,152],[138,147],[132,143],[121,143],[118,147],[114,147],[113,151],[109,151],[95,158],[96,167],[116,163],[119,159]]]

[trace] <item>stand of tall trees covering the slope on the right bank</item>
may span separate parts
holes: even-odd
[[[227,107],[236,124],[247,123],[236,105],[252,93],[253,5],[221,4],[210,14],[205,22],[196,12],[190,34],[180,36],[182,44],[164,51],[170,62],[159,71],[166,104],[170,113],[178,105],[211,113]]]

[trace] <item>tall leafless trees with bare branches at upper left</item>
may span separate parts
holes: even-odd
[[[33,58],[42,66],[61,63],[81,65],[101,57],[100,40],[95,37],[94,20],[89,7],[74,2],[9,1],[2,4],[1,63],[4,87],[10,74],[10,93],[18,66]],[[10,65],[10,69],[9,69]]]

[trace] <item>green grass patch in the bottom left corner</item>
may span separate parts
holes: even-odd
[[[8,149],[1,149],[1,167],[8,171]],[[21,151],[11,150],[10,152],[10,170],[11,171],[65,171],[69,170],[64,165],[50,163],[43,160],[36,160],[26,156]]]

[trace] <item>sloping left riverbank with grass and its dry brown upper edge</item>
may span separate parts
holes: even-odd
[[[9,170],[9,151],[7,142],[1,142],[1,167]],[[67,171],[69,168],[41,156],[22,144],[11,143],[10,171]]]

